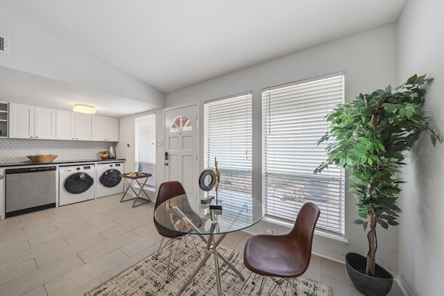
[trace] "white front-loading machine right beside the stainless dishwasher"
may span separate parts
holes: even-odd
[[[78,164],[76,166],[59,167],[58,205],[74,204],[96,197],[94,179],[96,170],[94,164]]]

